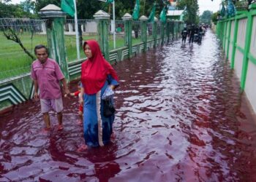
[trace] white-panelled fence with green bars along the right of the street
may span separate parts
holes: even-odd
[[[256,4],[251,4],[249,11],[238,11],[235,17],[219,20],[217,36],[240,80],[241,91],[246,92],[256,111]]]

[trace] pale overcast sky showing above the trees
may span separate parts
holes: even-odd
[[[20,1],[23,0],[12,0],[13,4],[19,4]],[[121,0],[116,0],[116,1],[121,1]],[[200,15],[206,11],[210,10],[212,12],[217,12],[219,10],[219,4],[221,3],[222,0],[198,0],[198,5],[199,5],[199,11]]]

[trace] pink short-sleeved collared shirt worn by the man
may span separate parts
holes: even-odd
[[[42,64],[39,60],[35,60],[31,67],[31,78],[36,79],[38,82],[40,98],[61,98],[59,80],[64,79],[64,75],[56,61],[48,58]]]

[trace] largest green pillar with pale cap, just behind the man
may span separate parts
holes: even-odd
[[[46,33],[50,58],[59,63],[59,67],[65,78],[69,82],[69,72],[67,67],[66,47],[64,40],[64,20],[66,13],[61,12],[61,9],[54,4],[40,9],[39,15],[46,21]]]

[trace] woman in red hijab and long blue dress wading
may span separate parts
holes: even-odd
[[[102,56],[97,41],[83,44],[87,60],[82,63],[81,82],[83,84],[80,102],[83,103],[83,134],[87,146],[104,146],[110,142],[115,115],[104,116],[102,95],[110,87],[118,87],[118,76],[113,67]],[[113,103],[113,97],[110,99]]]

